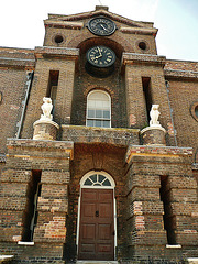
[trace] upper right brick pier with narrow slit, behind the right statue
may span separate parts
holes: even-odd
[[[170,110],[165,87],[163,67],[165,57],[148,54],[123,53],[122,69],[125,72],[125,94],[128,125],[143,129],[147,127],[146,101],[143,92],[142,78],[150,78],[150,94],[153,105],[160,105],[160,122],[168,132],[167,145],[174,145]]]

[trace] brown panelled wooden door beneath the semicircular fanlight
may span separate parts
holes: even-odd
[[[79,260],[114,260],[112,189],[81,189]]]

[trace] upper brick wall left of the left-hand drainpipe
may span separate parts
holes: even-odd
[[[7,138],[14,138],[25,98],[26,75],[33,69],[34,56],[30,50],[0,50],[0,153],[6,152]]]

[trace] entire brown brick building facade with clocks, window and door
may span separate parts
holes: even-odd
[[[196,261],[198,63],[107,7],[44,24],[42,47],[0,48],[1,258]]]

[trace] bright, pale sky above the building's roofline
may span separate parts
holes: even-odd
[[[99,4],[131,20],[154,22],[158,55],[198,62],[198,0],[4,0],[0,46],[42,46],[48,13],[75,14]]]

